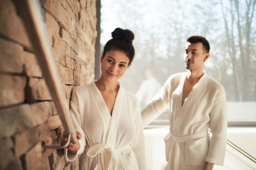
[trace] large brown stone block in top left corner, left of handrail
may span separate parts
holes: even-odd
[[[0,1],[0,26],[1,35],[24,45],[27,49],[32,49],[23,22],[11,0]]]

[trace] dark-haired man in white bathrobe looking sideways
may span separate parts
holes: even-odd
[[[203,36],[190,36],[185,49],[187,72],[169,77],[141,112],[145,127],[169,108],[170,133],[164,139],[169,170],[212,170],[214,164],[224,164],[226,94],[223,86],[203,70],[209,50]]]

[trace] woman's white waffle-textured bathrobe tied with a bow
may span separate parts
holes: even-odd
[[[68,161],[79,158],[79,170],[145,170],[145,144],[140,102],[119,84],[112,116],[94,81],[76,88],[70,113],[82,134],[81,148]]]

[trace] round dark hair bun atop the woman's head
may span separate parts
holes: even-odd
[[[128,29],[116,28],[111,33],[111,36],[113,37],[113,39],[118,39],[118,40],[125,40],[125,41],[134,40],[134,33]]]

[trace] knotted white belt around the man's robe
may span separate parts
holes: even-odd
[[[169,134],[164,138],[165,142],[171,142],[171,149],[169,152],[169,170],[179,170],[179,163],[180,163],[180,145],[179,142],[187,142],[193,139],[198,139],[202,138],[204,136],[207,136],[208,129],[204,130],[200,133],[188,135],[188,136],[181,136],[181,137],[176,137],[173,135],[173,133],[170,131]],[[174,153],[172,153],[174,152]],[[173,157],[174,158],[173,158]],[[171,161],[174,160],[174,161]],[[173,165],[172,165],[172,163]]]

